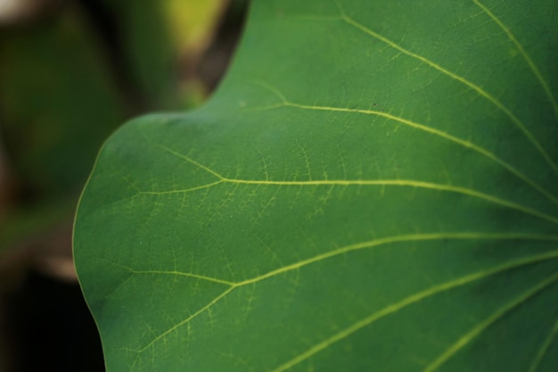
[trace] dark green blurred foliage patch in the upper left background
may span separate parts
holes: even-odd
[[[1,125],[14,168],[41,196],[77,194],[85,165],[126,118],[100,47],[72,12],[0,32]]]

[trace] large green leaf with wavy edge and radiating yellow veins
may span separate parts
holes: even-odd
[[[76,222],[111,371],[553,371],[554,0],[255,1]]]

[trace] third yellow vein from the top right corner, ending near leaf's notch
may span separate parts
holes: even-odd
[[[448,134],[444,131],[441,131],[441,130],[438,130],[438,129],[435,129],[435,128],[431,128],[431,127],[427,127],[423,124],[419,124],[419,123],[414,122],[412,120],[406,120],[406,119],[403,119],[403,118],[399,118],[398,116],[391,115],[390,113],[379,112],[379,111],[374,111],[374,110],[348,109],[348,108],[343,108],[343,107],[330,107],[330,106],[315,106],[315,105],[308,105],[308,104],[291,103],[291,102],[286,101],[286,100],[283,101],[283,106],[295,107],[295,108],[299,108],[299,109],[303,109],[303,110],[316,110],[316,111],[326,111],[326,112],[356,112],[356,113],[362,113],[362,114],[366,114],[366,115],[376,115],[376,116],[380,116],[380,117],[383,117],[383,118],[386,118],[386,119],[398,121],[402,124],[405,124],[406,126],[423,130],[423,131],[431,133],[435,136],[440,136],[440,137],[446,138],[449,141],[455,142],[458,145],[462,145],[462,146],[464,146],[466,148],[469,148],[469,149],[471,149],[471,150],[473,150],[477,153],[480,153],[483,156],[486,156],[491,161],[495,161],[497,164],[499,164],[500,166],[502,166],[505,169],[507,169],[508,171],[510,171],[514,176],[516,176],[517,178],[520,178],[522,181],[527,183],[529,186],[535,188],[539,193],[544,194],[546,196],[546,198],[548,198],[553,203],[558,205],[558,199],[556,199],[556,197],[554,197],[553,194],[550,194],[548,191],[546,191],[545,188],[543,188],[542,186],[539,186],[535,181],[533,181],[532,179],[525,176],[519,170],[513,168],[507,162],[498,158],[494,153],[490,153],[490,152],[488,152],[488,150],[486,150],[486,149],[484,149],[484,148],[482,148],[478,145],[472,144],[472,142],[465,141],[465,140],[463,140],[461,138],[458,138],[456,136],[452,136],[452,135],[450,135],[450,134]]]

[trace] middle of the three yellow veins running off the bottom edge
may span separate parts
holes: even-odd
[[[462,350],[464,346],[468,343],[471,343],[473,339],[475,339],[478,335],[484,332],[488,327],[493,325],[498,319],[503,318],[508,312],[512,311],[513,309],[520,306],[523,302],[529,300],[530,297],[533,297],[537,293],[542,292],[548,286],[553,285],[558,281],[558,274],[547,278],[543,282],[539,283],[538,285],[531,288],[528,292],[521,294],[520,297],[513,300],[506,304],[504,307],[497,310],[494,314],[490,317],[486,318],[479,325],[473,327],[471,331],[469,331],[466,335],[461,337],[457,340],[447,351],[442,353],[439,358],[432,361],[432,363],[423,369],[423,372],[434,372],[437,370],[442,364],[444,364],[448,359],[453,357],[458,351]]]

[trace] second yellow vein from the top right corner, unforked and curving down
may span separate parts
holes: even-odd
[[[554,163],[554,161],[552,160],[552,158],[550,157],[550,155],[548,155],[548,153],[546,153],[546,150],[538,143],[537,139],[529,132],[529,130],[527,128],[525,128],[525,126],[523,125],[523,123],[521,123],[521,120],[519,120],[514,114],[513,112],[510,112],[504,104],[500,103],[493,95],[488,94],[488,92],[486,92],[484,89],[482,89],[481,87],[473,84],[471,81],[464,79],[463,77],[456,75],[454,72],[451,72],[450,70],[447,70],[445,68],[443,68],[442,66],[440,66],[438,63],[432,62],[431,60],[429,60],[428,58],[423,57],[420,54],[415,54],[411,51],[406,50],[404,47],[402,47],[401,45],[398,45],[396,43],[394,43],[393,41],[391,41],[389,38],[387,37],[382,37],[382,35],[374,32],[372,29],[368,29],[366,28],[364,25],[362,25],[361,23],[358,23],[357,21],[353,20],[352,18],[349,17],[349,15],[347,15],[340,4],[340,11],[341,11],[341,19],[347,23],[349,23],[349,25],[355,27],[356,29],[360,29],[361,31],[363,31],[365,34],[368,34],[372,37],[377,38],[378,40],[382,41],[383,43],[390,45],[391,47],[393,47],[394,49],[397,49],[399,52],[406,54],[410,57],[413,57],[421,62],[424,62],[428,65],[430,65],[432,68],[439,70],[440,72],[446,74],[448,77],[455,79],[461,83],[463,83],[464,85],[466,85],[467,87],[472,88],[475,92],[477,92],[479,95],[481,95],[482,97],[484,97],[485,99],[487,99],[490,103],[493,103],[500,111],[504,112],[505,115],[510,118],[510,120],[513,121],[513,123],[515,123],[515,125],[517,125],[518,128],[521,129],[521,131],[523,132],[523,134],[525,136],[527,136],[527,138],[529,139],[529,141],[531,142],[532,145],[534,145],[537,148],[538,153],[540,153],[543,158],[545,159],[545,161],[550,165],[550,167],[552,169],[554,169],[554,171],[556,173],[558,173],[558,166],[556,166],[556,164]]]

